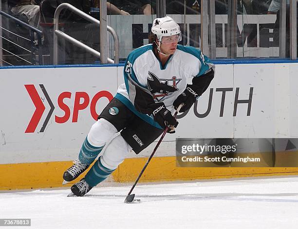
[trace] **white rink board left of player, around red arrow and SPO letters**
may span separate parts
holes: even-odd
[[[1,164],[73,160],[95,122],[90,112],[93,96],[102,90],[113,95],[117,89],[116,68],[1,69],[0,72]],[[39,131],[50,106],[39,84],[44,85],[55,106],[43,133]],[[35,106],[24,85],[34,85],[46,107],[34,133],[25,133]],[[56,123],[55,115],[62,117],[65,114],[57,104],[62,92],[71,92],[71,98],[64,99],[71,115],[67,122]],[[86,92],[90,97],[89,105],[78,111],[77,122],[72,121],[75,92]],[[96,103],[96,113],[99,114],[108,103],[107,98],[100,98]]]

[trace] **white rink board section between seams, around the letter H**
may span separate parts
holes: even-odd
[[[235,138],[275,137],[275,66],[234,65],[234,87],[241,87],[239,99],[248,99],[249,88],[254,88],[251,115],[246,116],[247,104],[237,107]]]

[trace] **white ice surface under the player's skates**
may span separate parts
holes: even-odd
[[[130,187],[0,193],[0,218],[31,218],[30,229],[298,228],[298,177],[138,184],[141,202],[125,204]]]

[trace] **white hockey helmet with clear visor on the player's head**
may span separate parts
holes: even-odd
[[[177,34],[179,35],[178,41],[181,41],[180,26],[173,18],[168,16],[154,19],[151,32],[157,36],[159,42],[161,42],[163,36],[172,36]]]

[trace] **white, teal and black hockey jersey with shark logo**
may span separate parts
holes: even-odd
[[[176,52],[162,66],[153,53],[153,45],[145,45],[129,54],[123,72],[125,84],[119,86],[115,98],[146,122],[161,128],[149,116],[148,104],[163,102],[173,113],[173,102],[191,78],[210,69],[215,69],[214,64],[194,47],[177,45]]]

